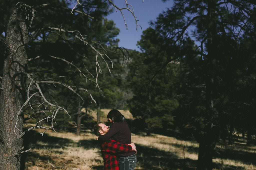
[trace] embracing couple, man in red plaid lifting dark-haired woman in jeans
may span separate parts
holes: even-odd
[[[137,150],[131,142],[131,131],[125,118],[116,109],[111,110],[107,117],[111,122],[110,128],[101,122],[94,126],[94,133],[101,144],[104,170],[133,170],[137,164]]]

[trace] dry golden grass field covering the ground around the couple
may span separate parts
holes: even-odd
[[[102,119],[106,119],[103,110]],[[122,111],[126,118],[132,115]],[[95,114],[95,113],[93,113]],[[104,120],[103,119],[103,120]],[[30,124],[26,124],[30,127]],[[74,131],[75,132],[75,131]],[[31,130],[25,138],[27,148],[25,169],[103,169],[100,148],[91,130],[83,130],[81,136],[74,132],[48,130],[41,136],[39,130]],[[135,169],[195,169],[198,144],[173,135],[132,134],[136,144],[138,164]],[[233,145],[218,145],[214,157],[214,169],[256,169],[256,147],[247,147],[245,140],[237,138]]]

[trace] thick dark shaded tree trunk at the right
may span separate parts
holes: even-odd
[[[214,99],[216,99],[218,90],[216,88],[216,56],[218,56],[218,50],[216,49],[218,38],[216,32],[216,1],[207,1],[207,56],[204,60],[205,66],[205,106],[206,106],[206,116],[205,121],[208,122],[207,125],[202,128],[201,133],[203,134],[199,142],[199,153],[198,153],[198,165],[197,170],[212,170],[212,157],[214,153],[214,148],[217,140],[219,139],[219,127],[217,125],[218,111],[215,108]]]

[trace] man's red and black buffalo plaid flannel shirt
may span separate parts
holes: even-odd
[[[132,147],[111,139],[103,142],[100,150],[104,160],[104,170],[119,170],[118,158],[114,154],[130,152],[132,151]]]

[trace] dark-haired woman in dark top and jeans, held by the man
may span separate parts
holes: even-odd
[[[105,135],[99,136],[98,140],[104,142],[110,138],[123,144],[131,143],[131,130],[125,121],[124,115],[118,110],[113,109],[108,113],[108,120],[111,122],[111,127]],[[133,170],[137,164],[137,158],[134,151],[119,154],[119,169]]]

